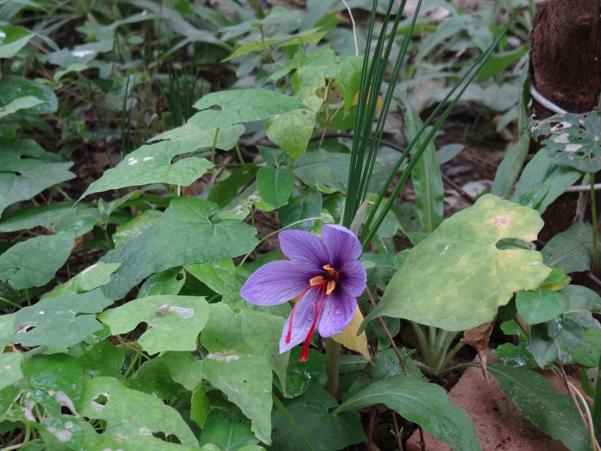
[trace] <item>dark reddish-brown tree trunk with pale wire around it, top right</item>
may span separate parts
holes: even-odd
[[[530,82],[569,113],[596,107],[601,90],[601,1],[549,0],[532,19]],[[552,116],[534,102],[537,119]]]

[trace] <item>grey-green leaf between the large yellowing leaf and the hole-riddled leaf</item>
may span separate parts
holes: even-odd
[[[511,200],[519,203],[519,199],[524,193],[528,193],[536,185],[548,185],[549,190],[545,193],[543,199],[538,202],[538,205],[533,206],[538,210],[538,213],[543,213],[551,202],[555,201],[566,191],[567,187],[581,177],[582,172],[579,170],[567,166],[558,166],[553,163],[547,152],[538,151],[524,167]],[[529,196],[525,198],[531,199]]]

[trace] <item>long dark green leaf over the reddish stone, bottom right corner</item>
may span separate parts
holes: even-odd
[[[591,449],[590,438],[570,396],[557,393],[551,382],[531,370],[490,363],[486,369],[534,426],[561,440],[570,451]]]

